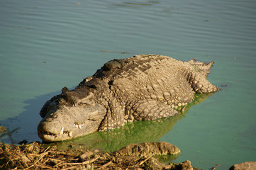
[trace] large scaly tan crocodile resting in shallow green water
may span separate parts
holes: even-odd
[[[64,87],[45,103],[38,136],[46,142],[70,140],[127,122],[177,115],[195,93],[220,90],[206,79],[212,64],[162,55],[106,62],[74,89]]]

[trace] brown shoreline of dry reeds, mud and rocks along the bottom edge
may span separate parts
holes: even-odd
[[[56,145],[32,142],[28,145],[0,143],[0,169],[169,169],[199,170],[189,160],[179,164],[160,155],[178,157],[180,150],[167,142],[127,145],[116,152],[99,149],[57,149]],[[168,163],[163,163],[168,162]],[[218,169],[219,164],[211,170]],[[256,162],[243,162],[230,170],[256,169]]]

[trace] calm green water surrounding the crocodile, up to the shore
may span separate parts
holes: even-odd
[[[40,108],[62,87],[72,89],[108,60],[150,53],[214,60],[208,79],[222,90],[181,117],[132,123],[70,144],[111,151],[166,141],[182,150],[174,162],[189,159],[202,169],[256,161],[255,28],[252,0],[0,0],[0,125],[9,129],[0,140],[40,140]]]

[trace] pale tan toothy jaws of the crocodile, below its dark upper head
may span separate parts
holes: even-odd
[[[38,136],[45,142],[70,140],[96,132],[106,109],[101,105],[67,107],[50,111],[38,125]]]

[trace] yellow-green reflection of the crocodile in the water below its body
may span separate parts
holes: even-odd
[[[94,132],[84,137],[52,143],[51,145],[57,144],[59,149],[74,147],[104,149],[108,152],[113,152],[132,143],[154,142],[172,130],[173,126],[179,119],[186,115],[191,106],[201,103],[208,98],[208,96],[211,96],[211,94],[196,94],[195,100],[189,103],[186,108],[179,108],[179,110],[183,110],[182,113],[180,112],[178,115],[171,118],[127,123],[121,128],[108,132]]]

